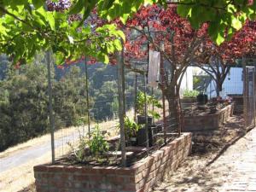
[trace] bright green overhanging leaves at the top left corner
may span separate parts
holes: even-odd
[[[81,55],[108,63],[108,55],[120,50],[119,39],[125,38],[113,24],[100,26],[92,32],[90,25],[70,22],[69,16],[81,10],[86,19],[97,1],[74,1],[69,11],[62,12],[47,11],[45,1],[41,0],[2,3],[0,51],[9,55],[14,64],[30,62],[36,52],[47,49],[52,49],[58,64],[66,59],[80,59]]]

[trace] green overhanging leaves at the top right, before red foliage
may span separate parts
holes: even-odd
[[[256,2],[248,5],[247,0],[183,0],[177,13],[189,19],[191,25],[199,28],[208,22],[208,33],[213,41],[222,44],[230,38],[247,19],[255,20]],[[228,37],[225,37],[228,32]]]

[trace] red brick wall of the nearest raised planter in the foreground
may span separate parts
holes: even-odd
[[[147,192],[168,172],[177,169],[191,149],[191,133],[183,133],[130,167],[34,167],[38,192]]]

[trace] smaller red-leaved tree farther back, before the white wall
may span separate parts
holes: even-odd
[[[219,46],[210,38],[204,41],[202,49],[206,51],[197,62],[198,66],[212,77],[217,96],[223,90],[224,80],[230,72],[230,67],[237,63],[237,59],[256,55],[256,22],[247,20],[232,38],[228,33],[225,38],[226,41]]]

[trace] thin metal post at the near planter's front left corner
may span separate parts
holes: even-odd
[[[51,162],[55,164],[55,122],[52,108],[52,84],[51,84],[51,51],[46,52],[46,62],[48,70],[48,96],[49,96],[49,126],[50,126],[50,143],[51,143]]]

